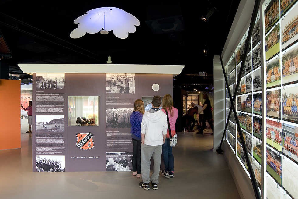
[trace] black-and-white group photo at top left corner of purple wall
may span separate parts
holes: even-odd
[[[36,90],[58,90],[64,86],[64,73],[36,73]]]

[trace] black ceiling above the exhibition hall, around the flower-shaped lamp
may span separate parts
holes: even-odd
[[[9,64],[10,73],[22,74],[17,63],[103,64],[110,55],[114,64],[185,65],[175,84],[213,84],[213,55],[224,47],[239,2],[1,0],[0,30],[12,52],[11,59],[1,62]],[[123,9],[136,16],[140,26],[126,39],[112,32],[72,39],[77,27],[73,21],[99,7]],[[208,22],[201,20],[213,7]],[[159,28],[153,29],[152,23]],[[208,76],[198,76],[203,71]]]

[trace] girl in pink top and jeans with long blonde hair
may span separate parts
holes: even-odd
[[[178,117],[178,109],[173,107],[173,98],[170,94],[166,94],[162,98],[162,109],[164,113],[165,110],[168,112],[169,122],[171,127],[172,137],[176,134],[175,123]],[[162,155],[165,163],[165,170],[161,171],[161,174],[166,178],[174,177],[174,155],[172,154],[172,148],[170,145],[170,134],[169,130],[167,133],[167,138],[165,143],[162,145]]]

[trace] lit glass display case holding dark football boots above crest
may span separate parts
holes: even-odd
[[[68,126],[98,126],[98,96],[68,96]]]

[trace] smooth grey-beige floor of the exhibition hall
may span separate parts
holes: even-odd
[[[160,176],[158,190],[139,187],[132,172],[32,172],[32,134],[21,133],[21,149],[0,151],[0,198],[240,198],[213,136],[178,133],[175,177]],[[2,140],[3,141],[3,140]]]

